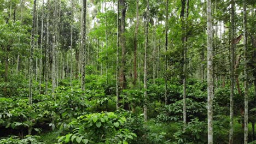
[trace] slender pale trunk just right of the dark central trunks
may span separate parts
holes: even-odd
[[[167,0],[168,1],[168,0]],[[147,11],[146,11],[146,30],[145,30],[145,47],[144,47],[144,106],[143,106],[143,113],[144,113],[144,121],[147,122],[147,49],[148,49],[148,17],[149,17],[149,0],[147,0]]]

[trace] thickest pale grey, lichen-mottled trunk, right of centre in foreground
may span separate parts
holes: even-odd
[[[207,119],[208,144],[213,144],[213,48],[212,48],[212,8],[207,0]]]

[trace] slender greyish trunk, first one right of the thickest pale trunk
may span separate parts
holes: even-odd
[[[235,52],[234,52],[234,0],[230,0],[231,3],[231,47],[230,47],[230,130],[229,130],[229,144],[233,143],[234,133],[234,63],[235,63]]]

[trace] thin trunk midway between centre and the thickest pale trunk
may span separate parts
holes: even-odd
[[[167,99],[167,56],[166,52],[168,50],[168,6],[169,6],[169,1],[166,0],[166,18],[165,18],[165,104],[168,104],[168,99]]]

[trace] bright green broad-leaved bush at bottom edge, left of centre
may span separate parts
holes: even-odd
[[[67,125],[60,123],[68,134],[60,136],[58,143],[128,143],[137,135],[124,128],[125,122],[125,117],[113,112],[83,115]]]

